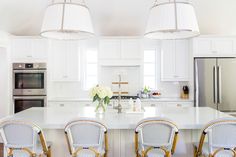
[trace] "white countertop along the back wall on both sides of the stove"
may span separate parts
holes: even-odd
[[[116,100],[116,99],[112,99]],[[129,99],[122,99],[122,101],[129,101]],[[141,98],[143,102],[193,102],[193,99],[181,99],[174,97],[160,97],[160,98]],[[80,98],[63,98],[63,97],[54,97],[48,98],[48,102],[92,102],[92,99],[80,99]]]

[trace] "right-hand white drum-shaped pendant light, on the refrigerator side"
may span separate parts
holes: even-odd
[[[200,34],[192,4],[169,0],[150,9],[145,36],[152,39],[185,39]]]

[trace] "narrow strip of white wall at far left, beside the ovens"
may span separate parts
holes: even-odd
[[[0,118],[9,113],[8,71],[7,49],[0,47]]]

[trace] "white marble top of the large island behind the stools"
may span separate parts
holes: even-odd
[[[144,113],[121,114],[112,109],[108,109],[105,114],[96,114],[94,107],[44,107],[30,108],[4,119],[34,122],[43,129],[64,129],[70,120],[90,117],[103,121],[108,129],[134,129],[141,119],[154,116],[171,119],[179,129],[201,129],[211,120],[230,117],[208,107],[145,107]]]

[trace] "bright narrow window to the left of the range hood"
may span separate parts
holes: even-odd
[[[85,79],[84,79],[84,88],[89,90],[98,83],[98,66],[97,66],[97,51],[88,50],[85,53]]]

